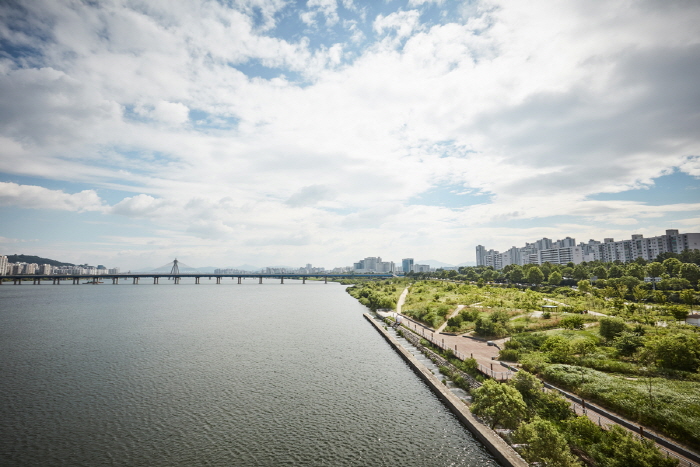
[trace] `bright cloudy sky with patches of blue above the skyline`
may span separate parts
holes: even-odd
[[[700,232],[700,2],[0,2],[0,254],[474,261]]]

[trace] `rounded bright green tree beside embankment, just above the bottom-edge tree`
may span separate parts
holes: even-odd
[[[489,424],[491,428],[515,428],[527,415],[527,406],[517,389],[494,380],[472,392],[474,402],[470,409]]]

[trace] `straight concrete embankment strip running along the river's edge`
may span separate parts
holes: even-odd
[[[486,446],[491,454],[498,460],[498,462],[504,467],[527,467],[527,462],[525,462],[522,457],[515,452],[515,450],[508,445],[500,436],[498,436],[493,430],[483,425],[477,421],[471,414],[467,406],[460,400],[457,396],[452,394],[452,392],[442,384],[442,382],[421,362],[418,361],[408,350],[403,348],[401,344],[387,332],[384,327],[378,323],[372,316],[365,313],[365,318],[367,321],[372,323],[372,325],[379,331],[379,333],[384,336],[384,339],[391,345],[410,366],[413,371],[418,374],[418,376],[423,379],[428,384],[428,387],[440,398],[440,400],[449,408],[452,413],[459,419],[464,426],[472,432],[472,434],[481,443]]]

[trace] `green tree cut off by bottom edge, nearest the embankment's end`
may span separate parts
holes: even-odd
[[[566,438],[556,426],[540,417],[523,423],[513,433],[519,443],[525,444],[523,457],[530,463],[548,467],[578,467],[581,463],[571,454]]]

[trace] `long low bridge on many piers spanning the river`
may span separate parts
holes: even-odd
[[[112,284],[119,284],[119,280],[129,281],[132,284],[138,284],[141,279],[153,279],[153,284],[159,284],[160,279],[172,279],[173,284],[179,284],[180,279],[183,277],[194,278],[195,284],[199,284],[202,278],[216,279],[217,284],[221,284],[222,280],[225,278],[238,279],[240,284],[243,279],[246,278],[257,278],[258,283],[262,284],[263,279],[279,279],[281,284],[284,284],[285,279],[301,279],[302,283],[306,283],[306,279],[323,279],[327,284],[328,279],[357,279],[357,278],[368,278],[368,279],[387,279],[392,277],[397,277],[394,274],[298,274],[298,273],[276,273],[276,274],[261,274],[261,273],[234,273],[234,274],[214,274],[214,273],[123,273],[123,274],[61,274],[61,275],[41,275],[41,274],[14,274],[7,276],[0,276],[0,284],[3,281],[12,281],[14,285],[20,285],[23,282],[32,281],[34,285],[40,285],[42,281],[51,281],[53,285],[60,285],[61,281],[71,281],[73,285],[81,284],[102,284],[106,281],[111,280]]]

